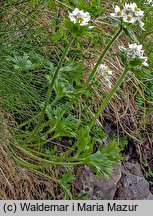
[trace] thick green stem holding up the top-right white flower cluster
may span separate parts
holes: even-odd
[[[83,89],[86,89],[90,80],[93,78],[94,74],[97,71],[98,66],[100,65],[100,63],[102,62],[103,58],[105,57],[107,51],[109,50],[109,48],[112,46],[112,44],[114,43],[114,41],[119,37],[119,35],[122,32],[122,26],[119,28],[119,30],[116,32],[116,34],[114,35],[114,37],[109,41],[109,43],[107,44],[107,46],[105,47],[105,49],[103,50],[103,52],[101,53],[96,65],[94,66],[93,70],[91,71],[85,85]]]

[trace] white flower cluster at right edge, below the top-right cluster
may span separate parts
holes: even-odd
[[[134,60],[134,59],[140,59],[142,61],[143,66],[148,66],[148,59],[144,55],[144,50],[142,49],[142,45],[133,43],[129,44],[128,48],[125,48],[123,46],[119,46],[119,49],[122,52],[125,52],[127,54],[128,60]]]

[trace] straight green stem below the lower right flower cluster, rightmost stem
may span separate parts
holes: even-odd
[[[93,118],[89,128],[91,129],[94,124],[96,123],[97,119],[99,118],[100,114],[104,111],[106,105],[109,103],[111,97],[114,95],[114,93],[116,92],[117,88],[121,85],[121,83],[123,82],[127,72],[128,72],[129,68],[125,68],[124,72],[122,73],[122,75],[120,76],[120,78],[118,79],[117,83],[115,84],[115,86],[112,88],[111,92],[109,93],[109,95],[105,98],[104,102],[102,103],[102,105],[100,106],[98,112],[96,113],[95,117]]]

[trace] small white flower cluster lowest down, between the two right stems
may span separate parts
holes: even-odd
[[[108,87],[111,88],[111,86],[112,86],[112,83],[110,81],[110,78],[112,76],[111,69],[108,66],[106,66],[105,64],[100,64],[97,68],[97,73],[105,79]]]

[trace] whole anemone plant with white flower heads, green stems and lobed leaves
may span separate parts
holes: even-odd
[[[109,19],[111,19],[114,26],[117,25],[117,31],[102,50],[87,80],[83,83],[80,78],[80,67],[75,67],[72,62],[67,66],[64,66],[64,63],[66,59],[69,59],[69,51],[72,47],[75,48],[75,42],[78,43],[83,36],[90,35],[94,27],[90,25],[91,16],[88,12],[78,8],[69,12],[68,19],[64,22],[65,28],[69,31],[69,43],[63,51],[57,66],[53,67],[53,70],[50,70],[50,73],[46,76],[48,90],[44,102],[41,103],[41,111],[37,116],[17,127],[17,143],[9,147],[13,159],[32,171],[55,181],[63,187],[69,198],[71,198],[71,195],[68,184],[72,182],[73,178],[64,176],[61,179],[56,179],[44,174],[41,170],[51,166],[63,166],[69,169],[76,165],[86,164],[97,175],[109,177],[113,165],[121,160],[120,148],[116,141],[111,140],[104,147],[101,134],[97,136],[93,133],[94,127],[97,127],[99,116],[124,81],[128,71],[134,72],[135,69],[148,66],[148,63],[140,44],[133,43],[128,48],[120,47],[119,55],[124,71],[114,86],[110,81],[113,71],[102,63],[108,50],[121,33],[133,38],[131,34],[133,25],[138,24],[142,30],[144,29],[142,18],[143,11],[135,3],[125,4],[123,9],[115,6],[115,12],[111,13]],[[14,59],[11,58],[10,60],[14,62]],[[36,66],[24,55],[22,59],[15,58],[16,69],[25,70],[23,64],[25,61],[28,70]],[[109,86],[109,93],[102,100],[97,112],[93,113],[93,119],[86,124],[83,123],[81,117],[77,118],[75,115],[75,104],[81,97],[90,94],[89,88],[97,73],[103,76]],[[52,96],[53,99],[51,100]],[[62,145],[58,143],[62,139],[65,139],[65,143],[67,143],[67,146],[65,144],[62,147],[67,147],[67,149],[60,152],[57,146]],[[95,144],[98,146],[96,151],[94,151]],[[20,152],[20,155],[22,152],[23,157],[18,156],[17,152]]]

